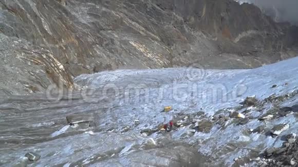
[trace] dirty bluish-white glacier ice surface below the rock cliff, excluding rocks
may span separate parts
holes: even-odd
[[[3,97],[0,165],[231,166],[235,158],[248,156],[251,150],[281,147],[279,136],[243,133],[264,124],[257,118],[272,107],[270,103],[262,111],[246,109],[255,118],[243,125],[230,119],[225,129],[214,124],[207,133],[189,135],[189,126],[166,134],[153,132],[147,136],[140,132],[154,130],[181,114],[202,111],[211,120],[220,109],[233,111],[248,96],[264,100],[272,94],[292,93],[298,84],[297,64],[298,58],[292,58],[251,70],[106,71],[78,76],[74,81],[82,90],[60,100],[44,94]],[[280,106],[292,106],[296,101],[294,96]],[[161,112],[165,106],[173,110]],[[95,126],[68,126],[66,116],[82,113],[92,115]],[[294,115],[273,119],[266,127],[280,123],[290,126],[281,135],[298,133]],[[24,160],[29,151],[41,159]]]

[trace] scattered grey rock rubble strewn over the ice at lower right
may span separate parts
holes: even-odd
[[[182,127],[187,127],[186,131],[183,132],[181,137],[187,138],[194,135],[196,132],[209,133],[215,124],[221,126],[221,130],[225,129],[225,126],[229,126],[231,123],[235,123],[236,126],[244,125],[250,120],[259,120],[264,121],[264,123],[258,126],[255,129],[246,129],[244,130],[244,135],[251,135],[253,133],[258,133],[260,135],[271,135],[276,137],[281,135],[284,131],[290,128],[290,125],[287,123],[281,123],[273,126],[272,129],[267,127],[268,122],[271,120],[277,119],[279,117],[287,116],[290,113],[298,112],[298,105],[292,107],[280,107],[275,105],[276,101],[284,101],[289,97],[293,97],[292,94],[284,96],[275,96],[272,95],[267,99],[262,101],[257,100],[255,97],[247,97],[243,103],[240,103],[241,107],[221,109],[213,116],[204,115],[204,112],[198,112],[195,114],[184,114],[178,113],[175,114],[172,121],[160,124],[154,130],[144,130],[141,133],[145,136],[151,135],[152,133],[164,131],[164,132],[175,132],[177,129]],[[273,107],[270,110],[264,110],[266,103],[274,103]],[[265,112],[264,112],[265,111]],[[263,114],[256,115],[255,113],[260,112]],[[245,113],[245,114],[244,114]],[[252,116],[251,114],[256,116]],[[228,123],[229,122],[229,123]],[[267,132],[267,133],[265,133]],[[169,134],[171,134],[169,133]],[[248,157],[238,157],[235,158],[235,164],[246,165],[249,161],[253,161],[258,166],[298,166],[298,152],[296,146],[298,146],[296,140],[296,134],[288,134],[280,137],[279,139],[284,140],[282,148],[268,148],[263,154],[260,154],[259,157],[254,159],[249,159]],[[295,145],[296,144],[296,145]],[[292,148],[294,146],[294,148]],[[262,146],[260,146],[262,147]],[[254,152],[254,154],[259,154],[260,150],[248,149]],[[295,154],[289,155],[289,153],[295,151]],[[257,155],[254,155],[254,157]],[[248,158],[248,160],[247,160]]]

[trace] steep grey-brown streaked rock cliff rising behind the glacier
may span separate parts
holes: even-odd
[[[294,56],[297,28],[230,0],[0,0],[6,93],[119,68],[252,68]],[[7,92],[10,90],[11,92]]]

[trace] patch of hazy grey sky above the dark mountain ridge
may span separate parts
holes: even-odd
[[[276,21],[288,21],[298,25],[298,0],[239,0],[262,8]]]

